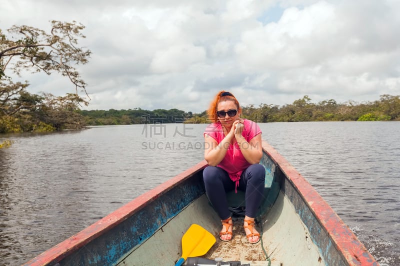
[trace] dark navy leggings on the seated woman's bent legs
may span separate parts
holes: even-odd
[[[215,211],[222,220],[232,213],[228,210],[226,192],[234,190],[233,182],[225,170],[217,166],[207,166],[203,171],[205,192]],[[265,168],[252,164],[240,176],[238,190],[245,192],[246,216],[254,218],[264,196]]]

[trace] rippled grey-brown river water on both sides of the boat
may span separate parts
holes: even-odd
[[[0,266],[21,265],[203,159],[205,124],[17,134],[0,150]],[[400,122],[260,123],[381,265],[400,265]]]

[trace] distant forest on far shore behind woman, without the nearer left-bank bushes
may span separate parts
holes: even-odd
[[[260,104],[242,106],[243,118],[255,122],[302,122],[302,121],[400,121],[400,95],[381,95],[373,102],[337,103],[324,100],[312,103],[305,95],[292,104],[278,106]],[[143,110],[78,110],[87,125],[128,125],[143,123],[209,123],[206,111],[185,112],[178,109]]]

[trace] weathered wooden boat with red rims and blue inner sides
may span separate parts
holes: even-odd
[[[256,217],[258,244],[248,244],[242,217],[234,218],[233,240],[217,240],[203,257],[251,266],[378,265],[311,185],[263,141],[264,200]],[[144,193],[26,265],[174,265],[191,224],[214,236],[220,220],[202,183],[202,161]],[[243,195],[228,195],[240,207]],[[215,264],[216,265],[216,264]]]

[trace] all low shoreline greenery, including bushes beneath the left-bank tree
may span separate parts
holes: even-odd
[[[193,114],[178,109],[140,108],[128,110],[79,110],[86,104],[75,94],[55,97],[51,94],[34,95],[27,92],[15,98],[19,112],[0,116],[0,133],[48,132],[78,129],[86,125],[128,125],[142,123],[210,123],[206,111]],[[338,104],[334,100],[311,103],[308,96],[293,104],[279,107],[273,104],[242,107],[242,117],[256,122],[297,121],[389,121],[400,120],[399,96],[382,95],[379,101],[357,104],[349,101]]]

